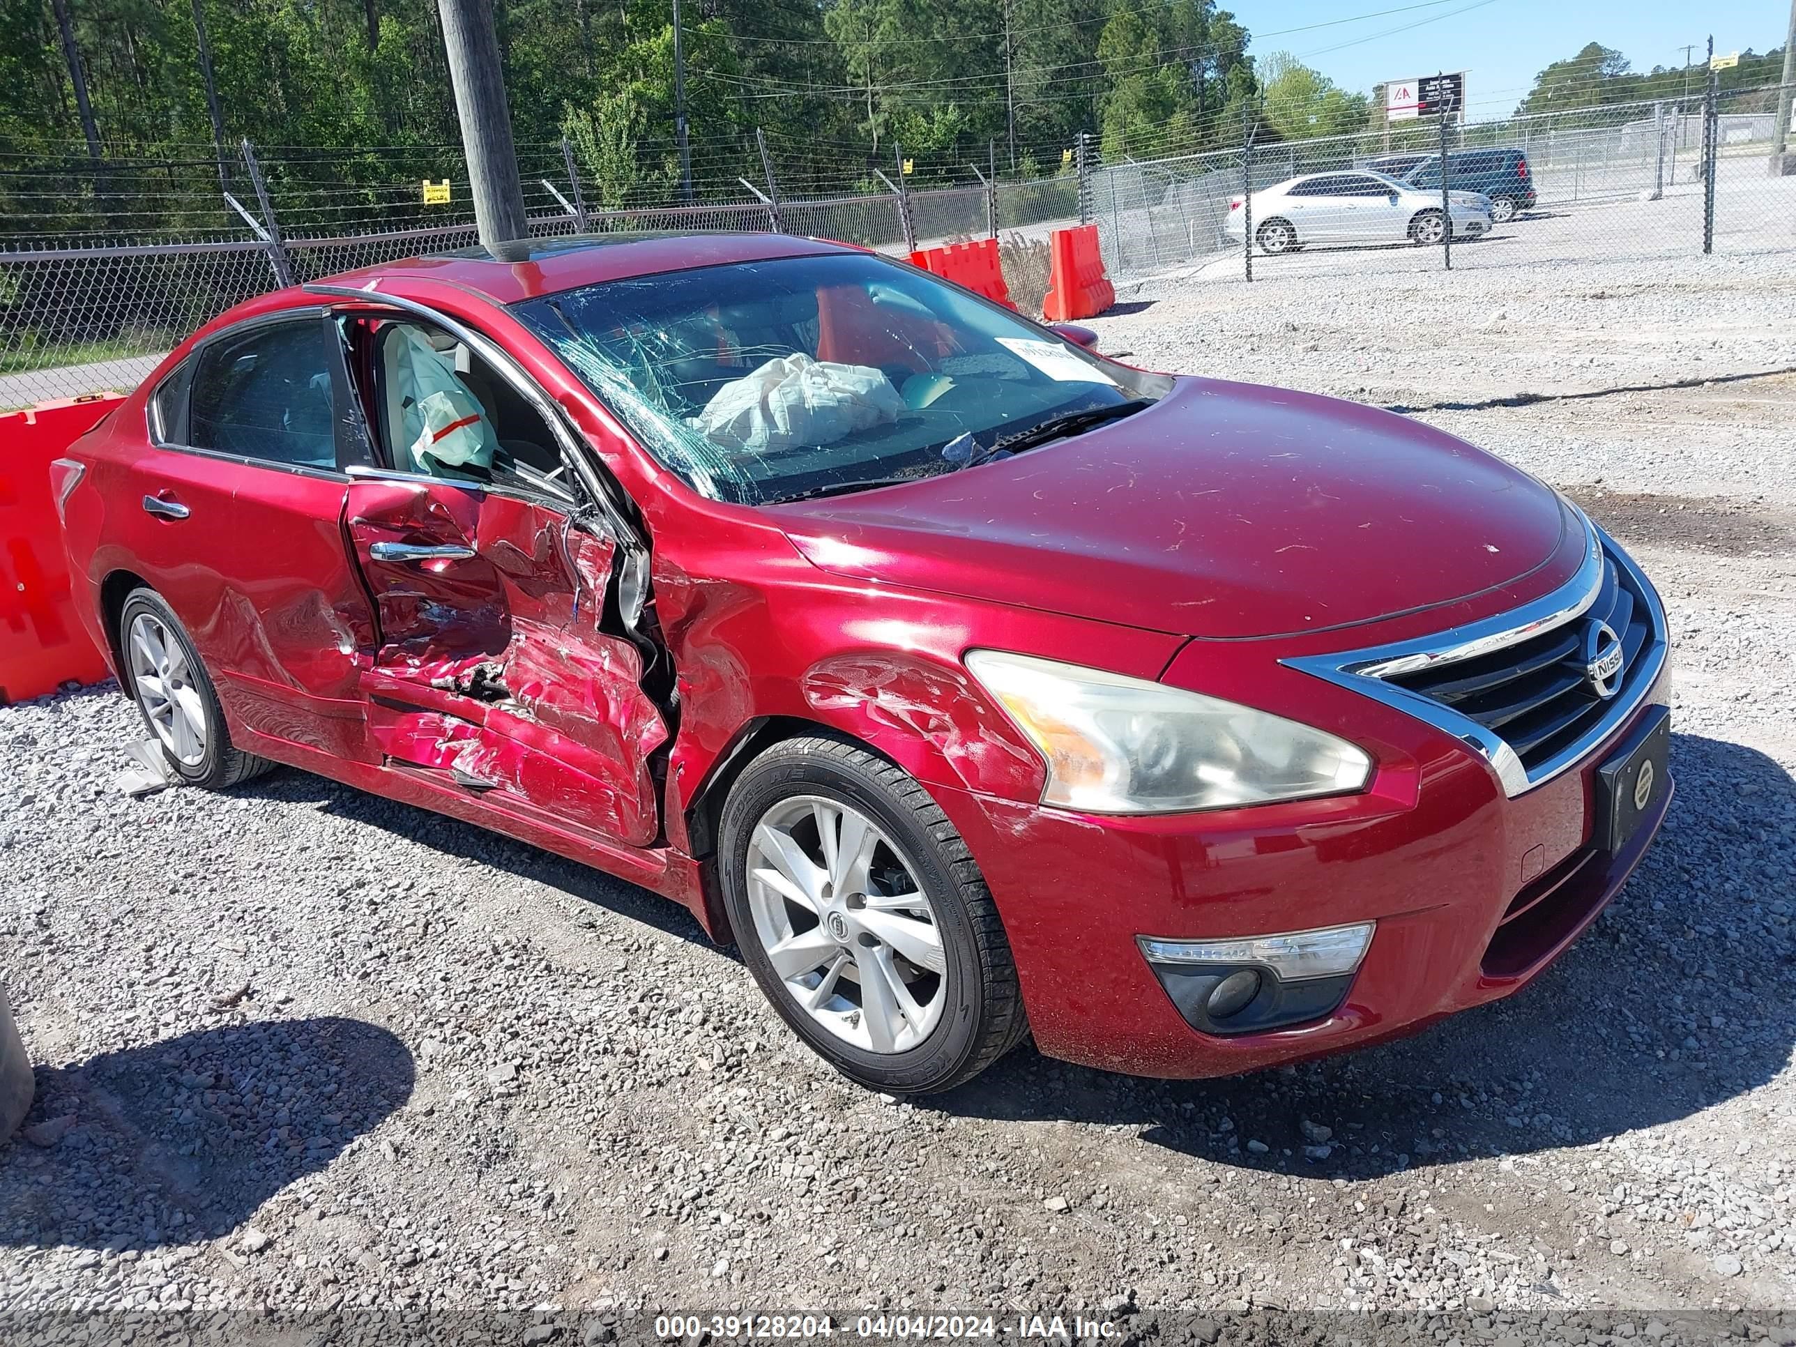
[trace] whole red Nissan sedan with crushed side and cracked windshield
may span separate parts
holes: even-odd
[[[894,1092],[1214,1076],[1528,982],[1665,817],[1665,612],[1428,426],[778,235],[246,304],[56,469],[174,772],[656,889]]]

